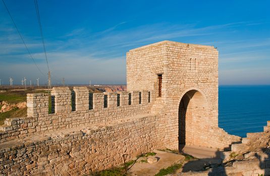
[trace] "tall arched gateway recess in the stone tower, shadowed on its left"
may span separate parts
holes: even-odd
[[[183,95],[178,111],[179,149],[184,145],[205,143],[208,115],[208,103],[203,93],[189,90]]]

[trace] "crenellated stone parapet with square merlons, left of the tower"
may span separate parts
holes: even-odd
[[[87,87],[73,87],[73,91],[75,111],[72,111],[72,92],[69,87],[52,88],[51,109],[54,113],[51,114],[47,94],[27,94],[27,117],[7,119],[5,125],[0,127],[2,130],[0,142],[37,132],[53,132],[150,113],[151,102],[148,102],[148,91],[89,94]],[[131,94],[130,105],[129,94]],[[104,97],[107,97],[106,108]]]

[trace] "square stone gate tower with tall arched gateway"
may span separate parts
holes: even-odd
[[[218,126],[218,58],[213,46],[162,41],[127,53],[127,90],[151,90],[159,148],[228,147]]]

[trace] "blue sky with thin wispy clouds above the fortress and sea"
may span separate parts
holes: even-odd
[[[34,1],[0,2],[0,79],[47,80]],[[172,40],[218,47],[220,84],[270,84],[269,1],[45,1],[39,13],[53,83],[126,83],[126,52]]]

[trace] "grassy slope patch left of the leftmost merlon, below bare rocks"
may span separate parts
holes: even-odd
[[[0,113],[0,125],[4,124],[4,121],[7,118],[15,118],[15,117],[26,117],[27,116],[27,108],[14,108],[11,111]]]

